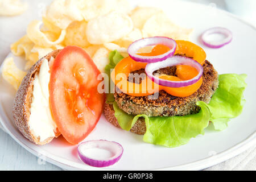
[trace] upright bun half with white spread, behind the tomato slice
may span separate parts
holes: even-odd
[[[14,121],[24,137],[36,144],[47,144],[60,132],[49,107],[49,68],[59,50],[38,60],[23,78],[14,98]]]

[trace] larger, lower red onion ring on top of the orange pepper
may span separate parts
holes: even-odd
[[[166,68],[166,67],[172,67],[176,65],[189,65],[193,68],[196,68],[196,70],[199,72],[197,76],[193,77],[191,80],[184,80],[184,81],[170,81],[170,80],[164,80],[157,76],[154,76],[154,71]],[[184,56],[172,56],[164,61],[160,61],[157,63],[149,63],[146,65],[145,71],[147,73],[147,76],[154,81],[158,85],[162,86],[168,86],[172,88],[179,88],[183,86],[189,86],[192,84],[195,84],[195,82],[199,81],[201,76],[203,75],[203,67],[201,64],[199,64],[197,61]]]

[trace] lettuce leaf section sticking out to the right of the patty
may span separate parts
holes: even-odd
[[[224,130],[228,127],[230,118],[236,118],[242,113],[245,100],[243,91],[246,88],[246,75],[224,74],[218,77],[218,89],[209,104],[200,101],[210,110],[210,121],[214,129]]]

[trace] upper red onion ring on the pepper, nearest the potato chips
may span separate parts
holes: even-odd
[[[158,44],[162,44],[164,46],[168,46],[170,48],[170,51],[158,55],[158,56],[141,56],[137,55],[137,52],[139,49],[146,47],[146,46],[155,46]],[[176,50],[176,42],[174,39],[167,38],[165,36],[154,36],[151,38],[143,38],[136,40],[127,49],[127,52],[129,53],[129,56],[131,59],[138,61],[138,62],[144,62],[144,63],[155,63],[158,61],[166,60],[168,57],[171,57],[174,55],[174,52]]]

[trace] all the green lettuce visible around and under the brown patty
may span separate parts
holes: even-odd
[[[110,69],[123,59],[117,51],[110,52],[110,63],[105,71],[110,75]],[[123,130],[129,131],[140,117],[144,117],[146,133],[143,140],[147,143],[166,147],[177,147],[189,142],[193,137],[204,134],[209,121],[214,129],[224,130],[230,118],[242,113],[245,100],[243,91],[246,88],[246,75],[224,74],[218,77],[219,85],[209,104],[197,102],[201,110],[197,114],[174,117],[147,117],[147,115],[130,115],[117,106],[113,94],[108,94],[106,102],[113,104],[115,117]]]

